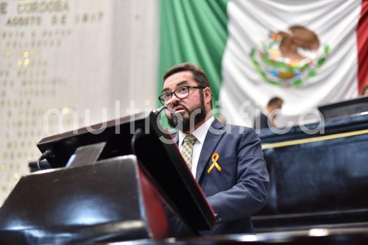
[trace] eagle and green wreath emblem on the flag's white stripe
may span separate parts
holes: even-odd
[[[287,32],[271,32],[262,49],[251,50],[250,58],[254,69],[269,84],[298,87],[317,75],[329,52],[330,47],[321,46],[314,32],[292,26]]]

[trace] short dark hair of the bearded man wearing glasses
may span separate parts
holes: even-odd
[[[208,78],[204,74],[204,71],[202,70],[202,68],[200,68],[197,65],[191,64],[189,62],[175,65],[171,67],[169,70],[166,70],[163,76],[163,81],[165,82],[167,77],[171,76],[172,74],[175,74],[180,71],[186,71],[186,70],[192,71],[193,79],[198,83],[198,86],[210,88]]]

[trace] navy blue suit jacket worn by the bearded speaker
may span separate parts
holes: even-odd
[[[207,173],[213,153],[219,155],[221,171],[213,168]],[[204,140],[196,180],[218,215],[214,227],[202,235],[254,233],[250,215],[266,204],[269,183],[254,129],[224,125],[215,118]],[[173,229],[175,236],[186,233],[185,225]]]

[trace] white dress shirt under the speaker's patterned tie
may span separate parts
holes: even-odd
[[[213,120],[215,118],[212,116],[207,121],[204,122],[201,126],[199,126],[193,133],[194,137],[197,138],[196,142],[193,145],[193,155],[192,155],[192,175],[196,177],[198,160],[200,159],[200,154],[202,150],[202,146],[204,143],[205,136],[207,135],[208,128],[211,126]],[[179,148],[183,147],[183,140],[187,136],[183,132],[179,131]]]

